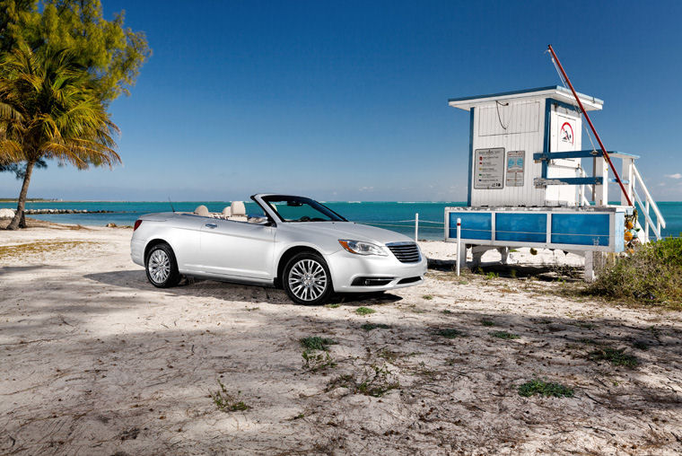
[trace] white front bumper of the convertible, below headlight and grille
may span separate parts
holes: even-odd
[[[337,251],[326,257],[331,273],[334,291],[338,293],[367,293],[393,290],[424,282],[426,258],[420,255],[415,263],[401,263],[390,254],[387,257],[354,255],[345,250]],[[400,283],[406,279],[418,280]],[[390,279],[383,285],[353,285],[363,283],[363,279]]]

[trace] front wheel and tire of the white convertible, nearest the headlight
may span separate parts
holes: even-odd
[[[327,303],[334,292],[327,261],[312,252],[294,255],[286,263],[282,285],[294,303],[303,305]]]

